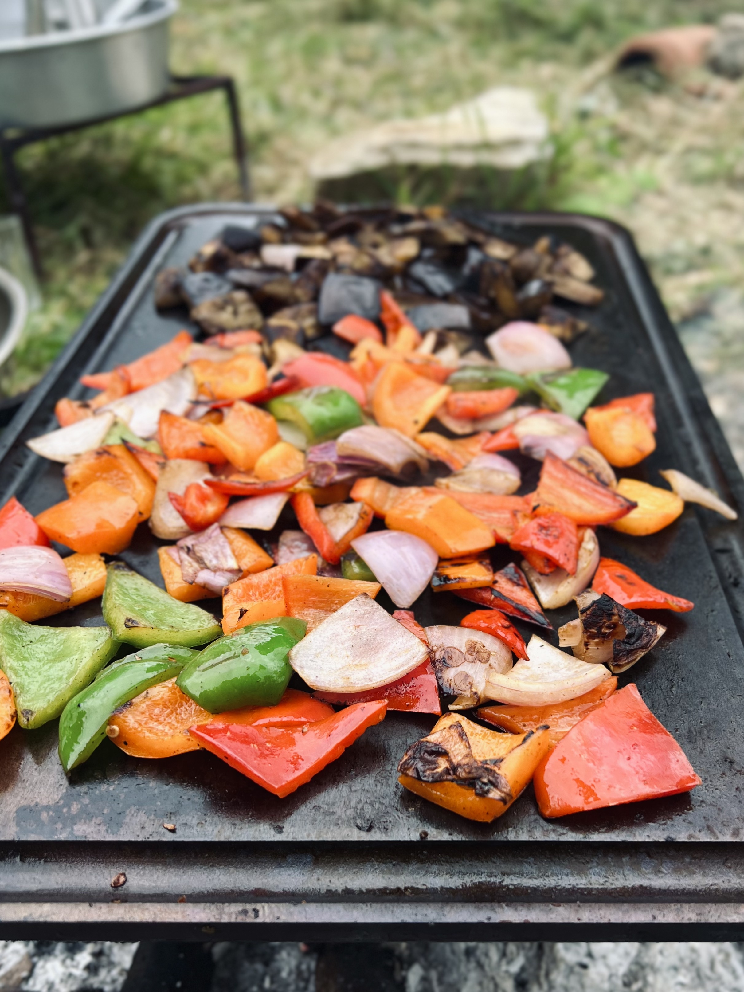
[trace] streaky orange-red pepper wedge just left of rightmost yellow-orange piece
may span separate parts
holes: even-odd
[[[535,499],[535,513],[558,511],[585,527],[610,524],[638,505],[577,472],[550,451],[543,462]]]

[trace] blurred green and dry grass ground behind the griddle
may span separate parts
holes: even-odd
[[[700,98],[638,69],[590,87],[587,104],[579,80],[635,33],[730,8],[730,0],[182,0],[172,67],[235,77],[254,194],[275,201],[310,198],[307,162],[329,138],[440,111],[493,85],[531,86],[554,123],[554,160],[510,186],[481,177],[478,195],[630,224],[680,310],[701,288],[744,275],[731,223],[744,205],[739,88]],[[6,393],[38,380],[154,214],[239,197],[219,94],[30,147],[20,165],[49,276],[44,306],[0,376]],[[442,174],[387,182],[401,199],[463,195],[459,178]]]

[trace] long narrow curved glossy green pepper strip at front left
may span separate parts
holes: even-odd
[[[151,685],[173,679],[197,655],[190,648],[156,644],[99,672],[62,710],[59,752],[65,773],[88,760],[106,736],[115,709]]]

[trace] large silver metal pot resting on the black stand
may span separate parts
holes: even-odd
[[[74,124],[161,96],[177,9],[176,0],[150,0],[122,24],[0,42],[0,126]]]

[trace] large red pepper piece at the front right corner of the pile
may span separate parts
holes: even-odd
[[[535,773],[535,797],[548,817],[676,796],[699,785],[682,748],[633,683],[572,727]]]

